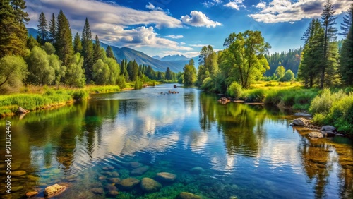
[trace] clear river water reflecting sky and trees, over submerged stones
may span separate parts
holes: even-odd
[[[12,195],[0,198],[35,189],[42,197],[54,183],[69,186],[56,198],[175,198],[183,191],[203,198],[353,198],[349,140],[308,140],[308,132],[290,127],[292,117],[273,107],[224,105],[217,95],[172,87],[94,95],[88,102],[8,119],[11,168],[26,174],[13,176]],[[165,94],[169,90],[179,93]],[[131,162],[149,169],[132,176]],[[1,162],[1,182],[5,166]],[[156,179],[162,188],[119,188],[112,197],[107,188],[114,172],[119,179]],[[159,172],[177,179],[165,183],[157,179]],[[97,188],[103,193],[94,193]]]

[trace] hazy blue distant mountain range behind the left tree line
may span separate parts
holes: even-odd
[[[33,37],[37,37],[38,33],[37,30],[34,28],[28,28],[28,35],[32,35]],[[100,45],[104,47],[104,49],[107,49],[108,45],[104,44],[103,42],[100,42]],[[118,62],[120,63],[123,59],[127,59],[128,61],[133,61],[136,60],[138,64],[145,64],[145,65],[150,65],[153,70],[155,71],[166,71],[167,67],[170,68],[173,72],[181,72],[183,71],[183,68],[185,64],[189,63],[190,58],[187,58],[186,56],[183,55],[168,55],[164,57],[160,56],[153,56],[150,57],[147,54],[144,54],[143,52],[136,51],[134,49],[128,48],[128,47],[114,47],[112,46],[114,55]],[[198,58],[195,57],[193,58],[195,63],[198,62]],[[198,65],[198,64],[196,64]]]

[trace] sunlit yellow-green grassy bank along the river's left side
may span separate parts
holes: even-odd
[[[117,85],[88,85],[85,88],[28,86],[21,89],[20,93],[0,96],[0,118],[15,115],[18,107],[28,111],[49,109],[77,100],[87,100],[90,94],[119,92],[120,90]]]

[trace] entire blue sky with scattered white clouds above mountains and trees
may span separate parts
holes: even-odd
[[[204,45],[224,49],[232,32],[260,30],[270,53],[288,51],[300,40],[312,18],[320,18],[326,0],[27,0],[29,28],[37,28],[41,12],[68,18],[73,35],[81,35],[85,18],[92,37],[130,47],[149,56],[198,56]],[[352,0],[331,0],[340,30]],[[339,37],[340,39],[340,37]]]

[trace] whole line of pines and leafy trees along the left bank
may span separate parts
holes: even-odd
[[[154,71],[136,61],[118,63],[112,47],[104,49],[98,35],[92,40],[88,18],[82,34],[72,37],[71,27],[62,10],[47,21],[40,13],[37,38],[28,37],[25,27],[30,18],[25,1],[0,1],[0,89],[21,85],[66,85],[82,88],[86,84],[126,86],[126,82],[166,80],[176,82],[177,74],[167,68]],[[2,32],[4,30],[4,33]],[[140,88],[138,86],[137,88]]]

